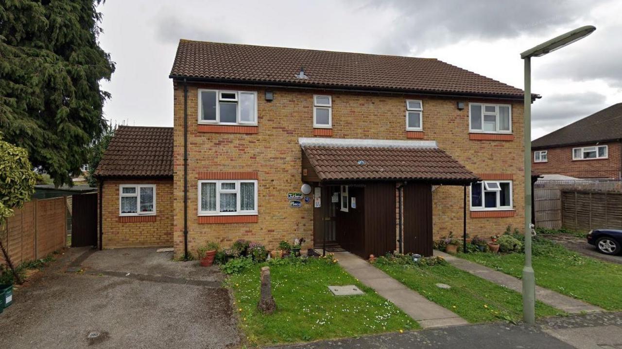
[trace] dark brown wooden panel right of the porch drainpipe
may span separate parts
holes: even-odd
[[[404,253],[432,256],[432,187],[404,186]]]

